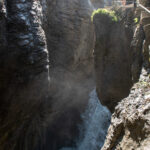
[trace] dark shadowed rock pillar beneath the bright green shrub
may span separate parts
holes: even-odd
[[[118,22],[105,14],[97,14],[93,18],[97,92],[102,104],[112,112],[139,79],[144,40],[142,26],[134,27],[133,9],[121,8],[118,14],[122,18]]]

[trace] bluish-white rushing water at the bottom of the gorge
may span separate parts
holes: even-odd
[[[83,124],[80,125],[80,139],[76,148],[61,150],[100,150],[104,144],[111,114],[100,104],[96,90],[90,93],[88,108],[82,114]]]

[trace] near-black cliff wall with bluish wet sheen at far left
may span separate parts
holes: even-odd
[[[0,3],[1,150],[34,149],[44,136],[49,60],[41,10],[39,1]]]

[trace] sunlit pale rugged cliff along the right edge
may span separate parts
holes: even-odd
[[[150,6],[148,0],[141,0],[140,3],[147,8]],[[133,79],[135,79],[133,81],[137,83],[131,88],[129,96],[121,100],[115,107],[102,150],[150,149],[150,16],[141,8],[137,8],[136,13],[140,25],[137,26],[131,43],[133,50],[131,69]],[[142,32],[140,32],[140,28],[143,30]],[[143,44],[143,47],[141,44]],[[142,49],[144,50],[142,51]],[[135,68],[140,67],[140,59],[138,58],[141,52],[144,56],[144,63],[139,77]]]

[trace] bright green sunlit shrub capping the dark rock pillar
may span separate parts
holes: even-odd
[[[93,21],[94,16],[97,15],[97,14],[108,16],[114,22],[118,21],[117,15],[115,14],[114,11],[107,10],[107,9],[100,9],[100,8],[93,11],[92,16],[91,16],[92,21]]]

